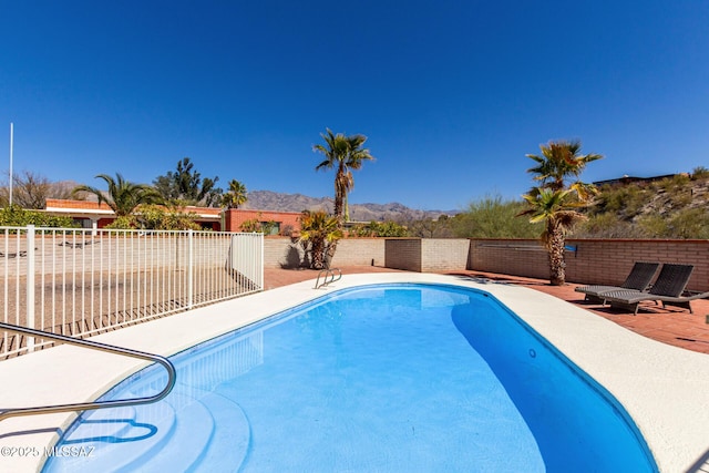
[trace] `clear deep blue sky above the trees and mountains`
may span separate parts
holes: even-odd
[[[584,181],[709,167],[709,2],[6,1],[0,169],[331,196],[326,127],[377,157],[351,203],[516,198],[538,145]],[[2,156],[7,156],[2,158]]]

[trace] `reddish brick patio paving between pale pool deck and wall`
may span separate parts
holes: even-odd
[[[401,273],[395,269],[379,266],[348,266],[340,269],[345,275],[343,277],[347,277],[347,275],[366,273]],[[456,275],[471,279],[486,279],[500,284],[525,286],[558,297],[559,299],[566,300],[589,310],[599,317],[625,327],[628,330],[662,343],[698,351],[700,353],[709,353],[709,323],[707,323],[709,300],[706,299],[695,300],[691,302],[693,313],[689,313],[687,310],[680,308],[662,308],[661,306],[647,304],[643,306],[643,309],[640,309],[637,316],[634,316],[629,311],[584,301],[584,295],[574,290],[579,286],[577,284],[567,284],[566,286],[561,287],[549,286],[548,281],[543,279],[473,270],[444,271],[442,274]],[[294,270],[265,268],[264,286],[265,289],[268,290],[294,282],[316,279],[317,276],[318,271],[309,269]]]

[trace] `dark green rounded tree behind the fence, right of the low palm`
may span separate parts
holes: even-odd
[[[220,188],[215,187],[219,177],[202,178],[189,157],[177,162],[177,169],[168,171],[153,181],[153,185],[165,202],[177,205],[217,206],[222,203]]]

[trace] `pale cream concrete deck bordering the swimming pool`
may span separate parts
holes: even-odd
[[[543,291],[471,274],[347,274],[318,290],[309,279],[92,339],[169,356],[333,290],[376,282],[449,284],[491,294],[616,397],[660,471],[709,466],[709,356],[643,337]],[[0,407],[93,400],[141,367],[136,360],[70,346],[6,360],[0,362]],[[0,422],[0,448],[6,452],[0,471],[40,469],[44,449],[74,418],[48,414]]]

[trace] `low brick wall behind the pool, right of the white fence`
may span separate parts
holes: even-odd
[[[569,239],[566,280],[620,284],[635,261],[695,265],[691,290],[709,290],[709,240]],[[297,267],[300,244],[265,239],[265,267]],[[548,279],[546,250],[535,239],[345,238],[332,266],[371,265],[410,271],[474,269]]]

